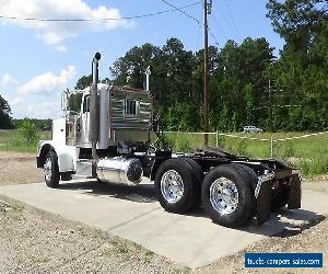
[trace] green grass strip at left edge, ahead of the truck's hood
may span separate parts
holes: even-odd
[[[38,138],[33,142],[24,141],[17,130],[0,130],[0,151],[16,151],[26,153],[36,153],[38,140],[51,138],[49,132],[39,132]]]

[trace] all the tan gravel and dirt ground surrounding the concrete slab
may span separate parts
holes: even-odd
[[[0,152],[0,185],[42,182],[32,155]],[[327,176],[305,182],[327,191]],[[326,216],[327,217],[327,216]],[[48,220],[0,203],[0,273],[189,273],[145,249],[99,231]],[[324,269],[245,269],[245,252],[319,252]],[[257,242],[192,273],[328,273],[328,218]]]

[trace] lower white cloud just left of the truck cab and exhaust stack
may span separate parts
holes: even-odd
[[[36,76],[19,88],[19,95],[50,95],[54,92],[58,92],[65,89],[67,87],[68,81],[74,76],[74,66],[69,66],[67,69],[62,69],[59,76],[56,76],[52,72],[46,72]]]

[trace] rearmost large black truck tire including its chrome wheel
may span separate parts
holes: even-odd
[[[225,227],[238,227],[254,216],[256,199],[249,170],[241,164],[212,169],[204,178],[201,199],[211,219]]]

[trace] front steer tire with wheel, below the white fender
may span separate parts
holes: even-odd
[[[58,158],[55,151],[49,151],[44,163],[45,181],[49,187],[57,187],[59,184]]]

